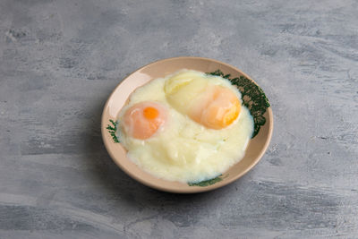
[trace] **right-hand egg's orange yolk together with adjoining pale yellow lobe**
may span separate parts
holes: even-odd
[[[223,129],[240,113],[241,102],[222,85],[193,72],[178,73],[165,83],[166,99],[176,110],[210,129]]]

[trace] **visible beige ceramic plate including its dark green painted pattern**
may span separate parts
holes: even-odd
[[[249,108],[254,118],[254,133],[245,156],[242,160],[231,166],[223,175],[200,182],[198,184],[183,184],[159,179],[141,170],[129,158],[120,142],[117,141],[114,131],[116,117],[127,102],[133,90],[143,84],[159,77],[165,77],[181,69],[196,70],[203,73],[221,75],[238,87],[242,92],[243,105]],[[229,64],[202,57],[175,57],[147,64],[127,76],[112,92],[107,100],[102,115],[101,131],[107,151],[115,164],[135,180],[149,187],[166,192],[205,192],[217,189],[234,182],[253,166],[255,166],[271,139],[273,130],[273,116],[266,98],[260,87],[251,78]]]

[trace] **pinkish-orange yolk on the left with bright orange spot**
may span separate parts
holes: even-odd
[[[166,122],[166,108],[154,102],[141,102],[124,114],[124,131],[138,140],[149,139]]]

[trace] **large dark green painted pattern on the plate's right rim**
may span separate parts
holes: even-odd
[[[269,107],[269,103],[265,93],[257,84],[243,75],[230,79],[230,74],[224,74],[220,70],[207,74],[221,76],[222,78],[231,81],[231,83],[240,90],[243,98],[243,105],[250,110],[253,117],[254,130],[251,138],[255,137],[259,133],[260,127],[266,123],[266,119],[263,115]]]

